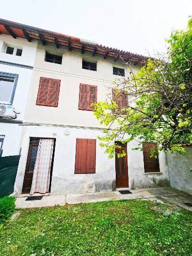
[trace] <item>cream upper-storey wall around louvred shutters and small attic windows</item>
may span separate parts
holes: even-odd
[[[45,50],[49,53],[62,55],[62,65],[44,61]],[[82,58],[97,61],[97,71],[82,69]],[[110,58],[92,57],[91,53],[81,54],[80,51],[69,52],[66,47],[57,49],[54,45],[38,44],[34,75],[30,86],[25,121],[46,124],[65,124],[89,127],[101,127],[95,119],[93,111],[78,110],[79,84],[98,86],[98,101],[106,100],[109,86],[119,76],[113,75],[113,65],[125,68],[122,61]],[[139,67],[134,67],[135,71]],[[127,76],[125,69],[125,76]],[[61,80],[58,107],[37,106],[36,99],[40,77]]]

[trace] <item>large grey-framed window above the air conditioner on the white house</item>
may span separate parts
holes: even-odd
[[[18,75],[9,73],[0,73],[0,102],[3,104],[12,104],[15,89],[17,86]]]

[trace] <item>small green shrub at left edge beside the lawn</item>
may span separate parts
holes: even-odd
[[[0,198],[0,225],[8,220],[15,210],[15,197],[4,196]]]

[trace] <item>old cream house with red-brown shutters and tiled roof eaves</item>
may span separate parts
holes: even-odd
[[[137,144],[132,141],[123,146],[126,157],[109,159],[97,139],[104,127],[95,119],[91,103],[106,99],[109,85],[119,74],[128,75],[121,58],[132,61],[137,72],[145,57],[10,21],[0,20],[1,23],[22,37],[14,39],[15,42],[37,44],[35,61],[30,64],[33,76],[29,92],[25,93],[28,99],[15,181],[17,195],[29,193],[32,180],[32,186],[38,180],[38,175],[35,179],[33,176],[35,162],[41,158],[37,151],[40,152],[39,145],[46,139],[52,141],[49,146],[51,194],[169,185],[164,153],[159,154],[159,160],[151,160],[147,149],[144,153],[132,151]],[[0,27],[0,33],[5,32]]]

